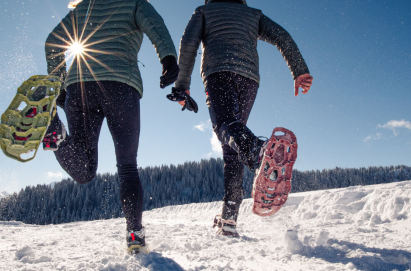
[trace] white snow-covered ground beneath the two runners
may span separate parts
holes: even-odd
[[[144,213],[153,252],[125,254],[125,221],[0,222],[0,270],[409,270],[411,181],[293,194],[270,218],[241,208],[240,239],[211,228],[221,203]]]

